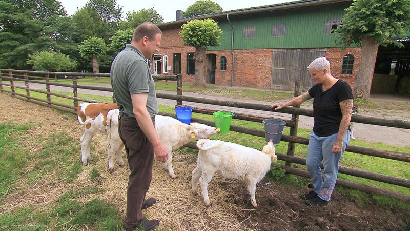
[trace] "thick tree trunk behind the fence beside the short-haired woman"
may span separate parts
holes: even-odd
[[[373,38],[362,38],[362,59],[359,73],[356,76],[353,98],[368,100],[372,86],[373,67],[377,56],[377,41]]]

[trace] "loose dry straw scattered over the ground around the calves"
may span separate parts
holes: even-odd
[[[0,122],[12,120],[16,123],[32,122],[42,126],[31,129],[31,135],[38,137],[41,134],[51,132],[65,132],[68,136],[79,139],[83,134],[83,128],[78,125],[74,116],[60,114],[56,110],[28,103],[0,93]],[[28,140],[26,145],[30,151],[37,151],[38,144]],[[15,194],[5,198],[0,205],[0,214],[25,206],[45,207],[55,203],[58,197],[65,191],[75,188],[97,186],[101,189],[100,194],[93,194],[81,198],[87,202],[93,198],[99,198],[118,208],[122,215],[126,209],[126,189],[128,182],[128,166],[119,167],[115,164],[115,172],[110,174],[107,170],[107,141],[103,134],[96,134],[92,141],[95,148],[91,153],[93,161],[83,167],[77,179],[71,183],[59,183],[51,173],[36,184],[26,189],[17,189]],[[173,154],[173,167],[176,179],[171,179],[168,172],[162,170],[160,163],[155,162],[153,167],[153,179],[147,197],[155,197],[158,202],[146,210],[144,214],[148,218],[161,220],[159,229],[169,230],[244,230],[255,229],[244,225],[242,219],[245,210],[252,209],[248,202],[249,194],[245,185],[239,181],[226,180],[215,175],[208,191],[212,206],[204,205],[200,187],[198,196],[194,197],[191,192],[191,172],[196,167],[195,150],[186,152],[176,151]],[[76,160],[80,161],[80,147],[73,153]],[[125,153],[124,153],[125,156]],[[101,174],[101,183],[90,179],[91,169],[97,169]],[[239,193],[238,193],[239,192]],[[237,204],[235,204],[235,202]],[[247,209],[248,208],[248,209]]]

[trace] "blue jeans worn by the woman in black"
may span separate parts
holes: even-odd
[[[339,172],[339,162],[343,152],[350,141],[348,130],[343,138],[342,151],[339,153],[332,152],[332,146],[337,137],[337,133],[329,137],[318,137],[312,131],[308,145],[308,165],[309,176],[312,179],[313,188],[316,194],[325,201],[330,201],[333,189],[335,188],[337,174]],[[322,169],[320,162],[323,160],[324,181],[322,178]]]

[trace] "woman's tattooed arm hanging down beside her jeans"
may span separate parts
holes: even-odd
[[[346,134],[347,128],[350,124],[350,119],[352,118],[352,107],[353,107],[353,100],[346,99],[339,103],[340,109],[342,111],[342,120],[340,121],[339,125],[339,132],[337,134],[335,143],[333,143],[332,152],[339,153],[342,151],[343,147],[343,138]]]

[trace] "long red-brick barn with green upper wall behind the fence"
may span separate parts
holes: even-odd
[[[221,45],[206,50],[206,83],[293,91],[295,80],[301,80],[307,90],[314,83],[306,67],[326,56],[331,74],[354,88],[361,48],[342,51],[332,33],[351,3],[305,0],[193,17],[213,18],[223,31]],[[179,36],[183,23],[192,18],[181,18],[177,11],[176,19],[158,25],[163,37],[161,54],[151,61],[153,73],[182,74],[184,82],[193,83],[195,48],[183,45]]]

